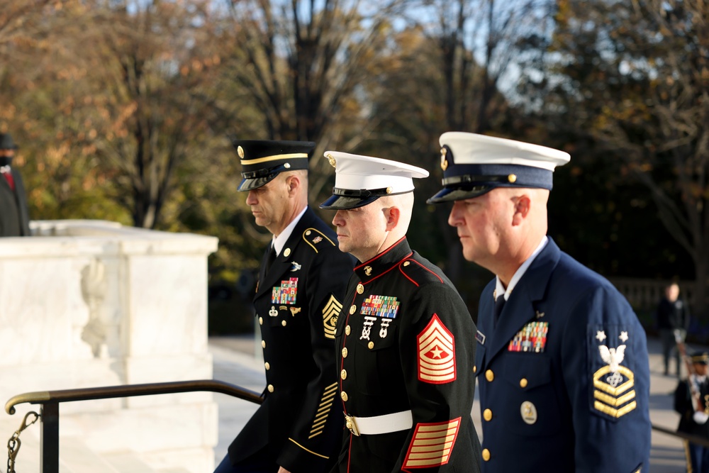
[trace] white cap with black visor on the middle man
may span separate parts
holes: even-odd
[[[339,151],[326,151],[325,157],[335,168],[335,187],[333,195],[320,208],[366,206],[381,196],[411,192],[414,177],[428,177],[425,169],[379,157]]]

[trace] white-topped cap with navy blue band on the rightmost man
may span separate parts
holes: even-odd
[[[429,204],[472,199],[496,187],[552,190],[554,168],[569,153],[521,141],[450,131],[440,137],[443,189]]]

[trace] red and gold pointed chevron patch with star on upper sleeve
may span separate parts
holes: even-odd
[[[453,334],[433,314],[418,335],[418,380],[431,384],[455,380],[455,343]]]

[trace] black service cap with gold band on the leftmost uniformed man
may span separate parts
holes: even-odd
[[[241,160],[239,191],[258,189],[280,172],[308,169],[311,141],[231,140]]]

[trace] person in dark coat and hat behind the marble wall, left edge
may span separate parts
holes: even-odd
[[[11,167],[17,148],[9,133],[0,133],[0,236],[30,235],[25,184]]]

